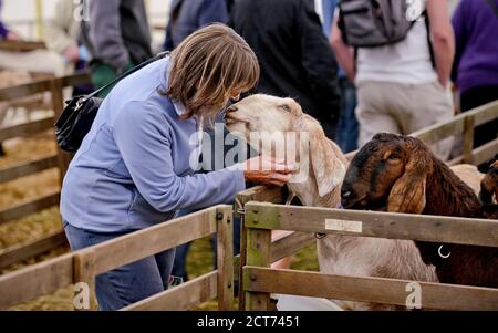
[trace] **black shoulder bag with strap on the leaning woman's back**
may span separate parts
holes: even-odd
[[[120,75],[113,82],[94,91],[90,95],[75,96],[72,100],[66,101],[65,103],[68,105],[64,107],[61,116],[55,123],[55,136],[61,149],[74,153],[80,148],[81,143],[83,142],[85,135],[90,132],[93,121],[98,112],[98,107],[102,104],[103,98],[97,97],[100,93],[146,65],[159,59],[166,58],[169,52],[162,52],[155,58],[149,59],[133,70]]]

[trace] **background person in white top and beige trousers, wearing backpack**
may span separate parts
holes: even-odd
[[[406,38],[395,44],[353,49],[342,39],[334,20],[332,45],[341,66],[357,92],[359,146],[380,132],[411,134],[454,115],[449,74],[455,40],[446,0],[422,1],[426,20],[416,21]],[[432,52],[434,51],[434,62]],[[435,146],[449,157],[453,138]]]

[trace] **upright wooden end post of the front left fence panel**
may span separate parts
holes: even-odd
[[[234,223],[231,207],[216,210],[218,310],[234,310]]]

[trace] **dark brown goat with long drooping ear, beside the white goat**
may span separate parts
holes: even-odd
[[[486,218],[476,194],[419,139],[382,133],[351,162],[342,205],[406,214]],[[492,214],[492,211],[491,211]],[[416,242],[440,282],[498,288],[498,248]],[[442,254],[450,253],[448,258]],[[445,256],[446,257],[446,256]]]

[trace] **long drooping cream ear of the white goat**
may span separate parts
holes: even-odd
[[[323,133],[310,133],[310,162],[320,197],[324,197],[342,184],[346,166],[340,158],[341,149],[335,147]]]

